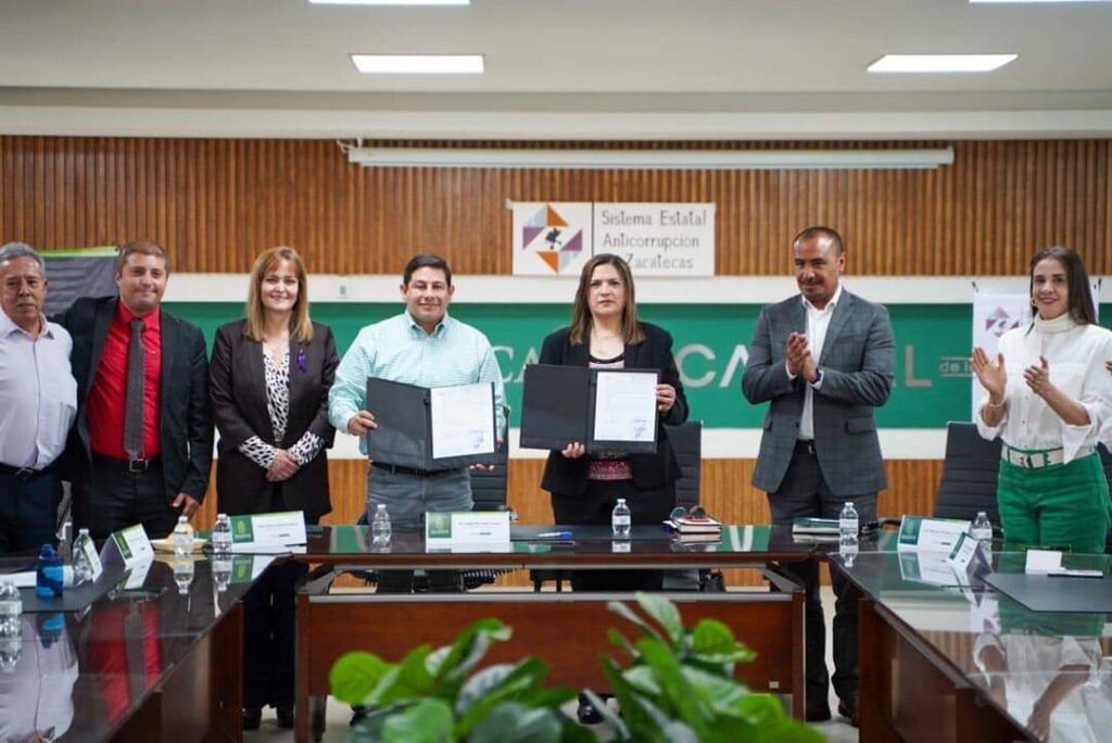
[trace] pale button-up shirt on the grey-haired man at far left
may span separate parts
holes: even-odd
[[[0,311],[0,463],[42,469],[66,447],[77,415],[73,340],[41,318],[38,338]]]

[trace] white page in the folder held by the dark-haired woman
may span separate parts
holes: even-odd
[[[599,371],[595,440],[652,442],[656,436],[656,374]]]

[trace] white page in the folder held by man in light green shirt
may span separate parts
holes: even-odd
[[[433,458],[494,454],[494,387],[490,383],[434,387]]]

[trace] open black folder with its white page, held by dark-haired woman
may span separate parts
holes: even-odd
[[[655,369],[530,364],[522,394],[522,446],[587,452],[656,450]]]

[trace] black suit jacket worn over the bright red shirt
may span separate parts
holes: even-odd
[[[52,319],[73,337],[70,364],[77,379],[77,425],[66,445],[62,476],[88,483],[92,476],[89,446],[89,390],[97,378],[105,339],[116,315],[117,297],[81,297]],[[173,501],[185,493],[205,498],[212,466],[212,418],[208,402],[208,353],[200,328],[160,313],[162,323],[162,373],[159,377],[158,425],[162,445],[162,478],[166,496]]]

